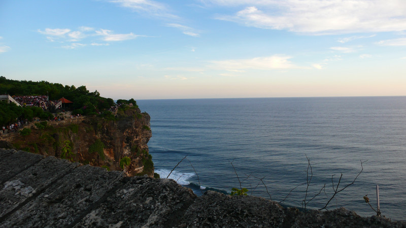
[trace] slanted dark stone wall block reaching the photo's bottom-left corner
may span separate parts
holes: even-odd
[[[2,226],[74,225],[123,179],[121,172],[108,172],[88,165],[78,167],[13,213]]]

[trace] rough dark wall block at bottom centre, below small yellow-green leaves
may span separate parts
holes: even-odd
[[[208,191],[186,211],[181,227],[280,227],[284,209],[260,197]]]

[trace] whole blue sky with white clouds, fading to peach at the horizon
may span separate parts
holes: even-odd
[[[113,99],[406,95],[405,0],[0,0],[0,75]]]

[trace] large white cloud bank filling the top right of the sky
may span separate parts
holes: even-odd
[[[309,34],[403,31],[404,0],[206,0],[224,7],[245,7],[216,18],[246,26]]]

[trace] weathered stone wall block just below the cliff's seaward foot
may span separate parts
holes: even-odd
[[[132,177],[76,227],[173,227],[195,198],[174,180]]]

